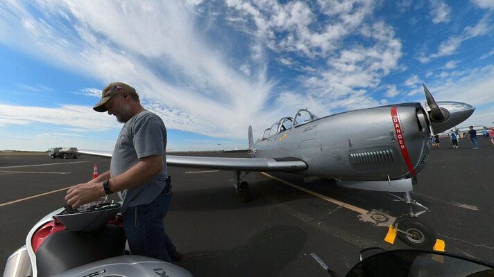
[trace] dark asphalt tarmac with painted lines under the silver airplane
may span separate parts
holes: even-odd
[[[431,211],[420,216],[445,240],[446,251],[494,262],[494,147],[461,139],[432,149],[412,197]],[[194,153],[245,157],[244,153]],[[0,154],[0,269],[25,244],[40,218],[64,205],[69,186],[89,180],[110,159],[49,159],[46,154]],[[173,199],[165,226],[182,253],[178,265],[194,276],[327,276],[315,257],[345,274],[366,247],[409,248],[383,241],[393,217],[407,212],[387,193],[305,184],[295,175],[253,172],[252,201],[239,201],[233,172],[169,168]],[[76,254],[76,253],[74,253]]]

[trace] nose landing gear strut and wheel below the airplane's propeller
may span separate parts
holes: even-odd
[[[396,218],[393,222],[392,227],[398,232],[398,238],[417,249],[432,249],[436,243],[436,234],[429,225],[418,220],[418,216],[429,211],[429,208],[411,199],[408,191],[403,193],[403,197],[393,196],[398,198],[395,201],[405,202],[409,207],[409,213]],[[414,212],[414,205],[423,208],[423,211]]]

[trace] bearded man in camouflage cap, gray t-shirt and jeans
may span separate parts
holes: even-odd
[[[112,82],[93,109],[125,123],[112,154],[110,170],[67,191],[65,201],[73,208],[119,193],[123,199],[123,228],[134,255],[167,262],[180,259],[167,233],[163,217],[171,200],[167,177],[167,129],[159,116],[142,107],[133,87]]]

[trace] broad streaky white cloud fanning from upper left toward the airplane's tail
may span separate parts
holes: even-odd
[[[126,80],[145,99],[166,102],[178,114],[203,118],[188,120],[180,129],[239,136],[238,127],[246,128],[269,96],[273,84],[266,81],[266,61],[249,62],[240,69],[235,61],[227,61],[228,53],[201,39],[194,10],[182,1],[37,4],[30,9],[39,8],[39,17],[22,4],[0,8],[0,15],[9,15],[0,18],[0,26],[17,24],[17,30],[21,26],[0,41],[102,82]],[[118,20],[108,17],[108,10]],[[57,17],[60,14],[66,19]],[[94,89],[82,93],[101,97]]]

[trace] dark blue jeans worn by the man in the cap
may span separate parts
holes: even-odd
[[[150,204],[128,207],[123,213],[123,229],[133,255],[165,262],[171,262],[171,257],[176,256],[177,251],[164,231],[163,222],[171,195],[169,190],[169,193],[160,194]]]

